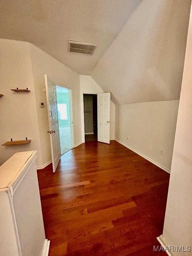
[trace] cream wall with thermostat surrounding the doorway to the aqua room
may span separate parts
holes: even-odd
[[[50,79],[59,86],[72,89],[75,146],[82,143],[79,75],[36,46],[32,44],[29,44],[29,46],[43,165],[51,160],[50,135],[47,134],[47,130],[49,129],[47,106],[45,108],[39,107],[40,101],[46,103],[46,93],[43,91],[43,88],[45,87],[44,75],[47,74]]]

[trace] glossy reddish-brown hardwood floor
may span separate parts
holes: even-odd
[[[38,170],[49,256],[151,256],[169,174],[116,141],[87,142]]]

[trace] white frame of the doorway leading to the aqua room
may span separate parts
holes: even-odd
[[[74,123],[73,123],[73,97],[72,97],[73,89],[69,89],[69,88],[66,88],[64,86],[57,85],[57,84],[56,84],[56,86],[67,89],[69,91],[69,93],[68,93],[68,95],[69,95],[69,119],[70,119],[71,149],[72,149],[72,148],[74,148],[74,145],[75,145],[75,143],[74,143]],[[60,145],[61,145],[61,143],[60,143]]]

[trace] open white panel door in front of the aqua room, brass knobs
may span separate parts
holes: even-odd
[[[47,131],[47,133],[50,134],[53,172],[55,172],[61,158],[59,118],[57,110],[57,92],[56,84],[52,82],[47,75],[45,75],[45,86],[49,119],[49,131]]]

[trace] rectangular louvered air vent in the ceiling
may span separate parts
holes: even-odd
[[[76,53],[84,53],[84,54],[93,54],[97,44],[87,44],[87,43],[80,43],[74,41],[68,41],[68,51],[69,52],[76,52]]]

